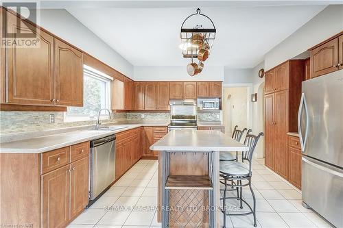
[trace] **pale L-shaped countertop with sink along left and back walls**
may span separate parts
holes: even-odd
[[[128,123],[128,124],[115,124],[114,127],[125,127],[115,131],[96,131],[96,130],[78,130],[69,131],[61,134],[53,134],[49,136],[40,136],[35,138],[28,138],[25,140],[17,140],[13,142],[4,142],[0,144],[0,153],[43,153],[62,147],[67,147],[72,144],[86,142],[110,136],[121,131],[127,131],[142,126],[164,126],[163,123]]]

